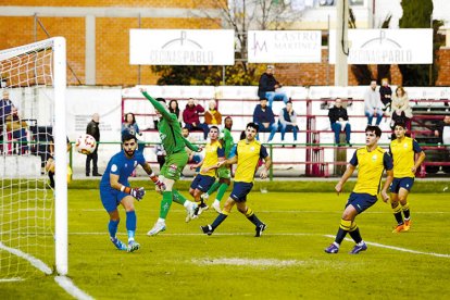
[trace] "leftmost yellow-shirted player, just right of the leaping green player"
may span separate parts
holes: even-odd
[[[198,214],[208,210],[208,205],[204,203],[203,199],[200,198],[200,196],[202,192],[208,191],[208,189],[214,184],[217,162],[225,160],[225,150],[218,141],[217,126],[211,126],[209,135],[210,142],[204,147],[204,159],[198,164],[190,166],[190,168],[201,166],[200,173],[193,178],[189,188],[189,193],[192,195],[195,201],[199,205]]]

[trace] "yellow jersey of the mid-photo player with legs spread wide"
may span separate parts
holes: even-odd
[[[237,143],[236,155],[238,163],[235,182],[240,183],[253,183],[260,158],[268,157],[267,150],[261,142],[253,140],[247,143],[246,139],[239,140]]]

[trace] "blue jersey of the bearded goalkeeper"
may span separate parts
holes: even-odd
[[[101,177],[100,188],[111,187],[110,174],[118,175],[118,183],[124,186],[129,186],[128,177],[138,164],[143,165],[145,163],[146,159],[143,158],[142,152],[135,151],[133,158],[128,159],[124,150],[122,150],[112,157],[108,163],[107,170]]]

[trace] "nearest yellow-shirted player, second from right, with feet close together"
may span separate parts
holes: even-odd
[[[354,151],[346,173],[343,173],[342,178],[335,187],[339,195],[346,182],[353,174],[357,166],[359,166],[357,185],[347,201],[335,241],[325,249],[326,253],[337,253],[347,233],[357,242],[350,254],[358,254],[361,251],[367,250],[367,245],[362,239],[354,218],[378,200],[377,195],[382,184],[383,172],[386,170],[387,173],[387,178],[382,189],[382,197],[385,202],[389,200],[387,189],[393,178],[392,159],[385,150],[378,147],[380,136],[382,129],[378,126],[368,125],[365,128],[365,147]]]

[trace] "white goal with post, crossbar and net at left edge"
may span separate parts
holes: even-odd
[[[65,66],[64,38],[0,51],[0,280],[67,273]]]

